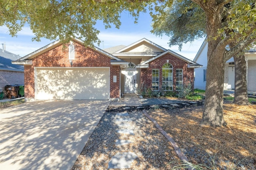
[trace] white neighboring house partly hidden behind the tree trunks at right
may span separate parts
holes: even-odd
[[[201,68],[195,68],[194,88],[205,90],[206,70],[207,70],[207,51],[208,43],[205,40],[200,47],[194,62],[202,64]],[[247,65],[247,88],[248,91],[256,91],[256,50],[249,50],[245,53]],[[224,90],[235,88],[235,66],[233,57],[226,62],[224,71]]]

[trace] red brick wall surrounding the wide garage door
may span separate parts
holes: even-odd
[[[110,67],[110,78],[116,75],[117,83],[113,83],[110,80],[110,98],[119,98],[120,95],[120,67],[111,66],[110,57],[95,51],[89,47],[84,47],[83,44],[76,41],[73,42],[75,46],[75,59],[73,60],[73,67]],[[34,67],[70,67],[68,59],[68,45],[67,48],[63,48],[62,45],[58,45],[42,53],[32,59],[31,66],[24,66],[25,74],[25,88],[24,95],[27,99],[34,99]],[[118,74],[117,74],[118,72]]]

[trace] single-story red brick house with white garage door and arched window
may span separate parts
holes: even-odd
[[[25,99],[119,100],[141,86],[176,90],[191,80],[199,64],[147,39],[101,50],[73,39],[63,49],[55,41],[12,63],[24,65]]]

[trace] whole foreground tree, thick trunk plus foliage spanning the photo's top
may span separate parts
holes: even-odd
[[[152,16],[153,31],[171,36],[170,45],[181,48],[182,43],[207,35],[202,122],[225,125],[224,65],[256,39],[254,0],[176,0],[174,3],[172,0],[0,0],[0,26],[6,25],[15,36],[27,23],[35,34],[33,40],[44,37],[67,42],[71,37],[78,37],[86,45],[93,45],[100,43],[99,31],[94,27],[98,20],[103,21],[106,28],[112,25],[119,28],[122,11],[130,12],[136,22],[140,12],[146,12],[147,8]]]

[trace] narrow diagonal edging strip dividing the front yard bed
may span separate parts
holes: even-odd
[[[184,153],[180,150],[180,148],[178,147],[177,143],[172,139],[172,137],[166,132],[164,131],[164,129],[157,123],[157,121],[155,119],[153,119],[145,110],[142,110],[142,112],[146,115],[146,117],[148,117],[148,119],[150,119],[155,125],[156,127],[160,130],[160,132],[166,137],[166,139],[168,139],[168,141],[172,144],[172,147],[174,147],[175,152],[177,153],[178,157],[180,158],[180,160],[182,160],[182,162],[184,162],[185,164],[191,164],[188,161],[188,158],[184,155]],[[189,168],[190,169],[190,168]]]

